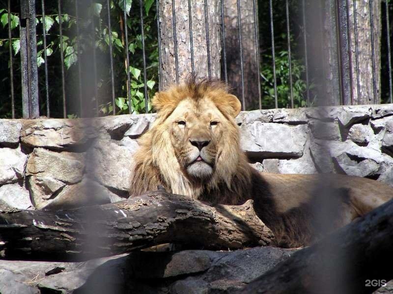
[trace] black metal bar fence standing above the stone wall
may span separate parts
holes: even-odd
[[[258,13],[260,16],[261,11],[258,11],[258,6],[265,5],[262,1],[258,2],[252,0],[253,5],[253,39],[255,41],[255,58],[256,58],[256,71],[257,71],[257,89],[258,97],[257,104],[259,108],[263,107],[263,98],[261,93],[261,82],[266,82],[267,78],[261,73],[261,65],[269,64],[272,69],[273,77],[271,83],[272,89],[272,99],[274,99],[273,107],[279,107],[278,101],[278,77],[277,73],[277,54],[276,51],[276,40],[277,35],[275,35],[275,21],[274,18],[274,2],[269,0],[268,3],[268,15],[269,19],[263,19],[264,27],[269,27],[270,31],[261,31],[258,27],[262,25],[259,22]],[[176,29],[176,9],[175,0],[172,0],[172,15],[159,15],[160,12],[160,1],[156,0],[155,5],[153,5],[153,0],[142,1],[139,0],[138,3],[133,3],[131,6],[130,0],[119,0],[119,1],[61,1],[57,0],[56,3],[56,13],[54,11],[54,2],[51,1],[51,7],[48,7],[48,1],[45,3],[44,0],[20,0],[11,2],[7,0],[7,3],[0,1],[0,5],[3,8],[0,12],[1,23],[3,25],[3,39],[1,39],[0,50],[7,50],[7,59],[2,58],[4,61],[8,61],[9,76],[3,76],[3,90],[0,96],[1,104],[0,106],[0,116],[1,117],[38,117],[45,115],[47,117],[86,117],[86,116],[97,116],[116,113],[135,113],[149,112],[149,91],[155,91],[161,89],[161,77],[162,77],[162,44],[160,37],[160,23],[163,18],[171,17],[173,25],[173,39],[174,46],[174,62],[175,62],[175,77],[176,82],[179,81],[179,71],[178,71],[178,53],[177,47],[179,37],[177,35]],[[136,1],[134,1],[136,2]],[[281,2],[281,1],[280,1]],[[293,36],[293,21],[295,19],[297,25],[300,27],[298,29],[298,39],[296,42],[296,54],[302,55],[299,59],[302,62],[302,67],[304,67],[304,72],[301,73],[301,79],[304,81],[306,88],[301,94],[304,99],[304,105],[301,106],[312,106],[314,99],[310,94],[312,84],[312,76],[315,73],[315,69],[311,68],[311,64],[315,64],[315,57],[310,57],[309,44],[314,42],[312,38],[314,37],[312,33],[309,32],[310,27],[315,25],[315,23],[309,22],[309,17],[307,14],[307,7],[310,2],[307,0],[297,1],[296,13],[291,13],[292,6],[294,7],[295,1],[285,0],[284,1],[284,15],[281,15],[281,19],[285,20],[285,38],[286,38],[286,52],[285,57],[287,62],[288,74],[288,107],[295,107],[294,103],[294,80],[293,80],[293,54],[294,54],[294,41]],[[112,6],[111,6],[112,3]],[[153,28],[152,23],[149,24],[149,33],[154,31],[157,33],[155,38],[151,38],[150,42],[157,43],[158,56],[157,64],[148,64],[147,59],[151,62],[154,58],[148,58],[152,52],[147,51],[145,48],[146,36],[146,24],[144,24],[144,19],[148,14],[148,9],[146,7],[148,3],[150,14],[153,13],[155,17],[155,28]],[[189,14],[189,37],[190,37],[190,59],[191,59],[191,71],[195,73],[195,61],[194,56],[195,44],[193,44],[193,25],[192,25],[192,0],[188,0],[188,14]],[[312,1],[311,1],[312,3]],[[381,52],[376,52],[377,46],[375,45],[375,15],[373,12],[374,4],[373,0],[369,1],[368,13],[369,13],[369,42],[371,45],[371,62],[372,67],[370,73],[372,74],[372,95],[373,102],[377,102],[377,93],[379,89],[379,82],[377,80],[378,74],[383,77],[384,89],[383,93],[385,102],[392,103],[392,49],[391,49],[391,39],[392,39],[392,11],[393,3],[392,1],[378,1],[382,9],[381,18],[381,36],[380,41],[382,42]],[[245,78],[244,78],[244,45],[243,41],[245,38],[249,38],[248,35],[242,34],[242,9],[241,1],[237,0],[237,26],[238,26],[238,58],[240,59],[240,81],[241,81],[241,95],[240,99],[243,104],[243,109],[245,109]],[[277,4],[277,3],[276,3]],[[208,76],[211,76],[211,59],[210,59],[210,44],[209,42],[209,21],[207,16],[208,11],[208,1],[204,0],[204,20],[205,20],[205,31],[206,31],[206,49],[207,49],[207,67]],[[280,4],[281,5],[281,4]],[[361,81],[360,81],[360,70],[359,63],[362,53],[359,50],[359,28],[357,20],[357,3],[356,0],[327,0],[322,1],[318,9],[319,13],[322,15],[321,31],[323,30],[324,24],[330,24],[330,32],[332,40],[329,40],[332,44],[336,44],[334,47],[335,56],[331,60],[331,63],[337,65],[337,71],[333,72],[337,74],[338,77],[338,93],[339,93],[339,104],[356,104],[354,96],[360,96],[361,94]],[[116,7],[114,7],[116,6]],[[220,12],[221,12],[221,55],[222,55],[222,79],[226,83],[228,81],[228,71],[227,66],[227,50],[225,47],[226,31],[225,31],[225,1],[220,2]],[[153,7],[153,8],[152,8]],[[324,9],[327,7],[333,7],[332,14],[325,14]],[[67,10],[68,9],[68,10]],[[94,9],[98,9],[100,13],[94,14]],[[120,40],[114,34],[113,29],[113,9],[118,9],[122,11],[122,15],[118,15],[120,21],[116,19],[115,25],[122,32],[123,38]],[[351,10],[352,9],[352,10]],[[97,10],[97,11],[98,11]],[[145,12],[146,11],[146,15]],[[351,13],[352,11],[352,13]],[[47,13],[46,13],[47,12]],[[49,16],[48,16],[49,13]],[[72,16],[71,16],[72,14]],[[352,14],[352,15],[351,15]],[[140,55],[134,54],[135,48],[131,46],[129,41],[130,30],[131,34],[135,35],[136,28],[130,25],[130,21],[136,21],[139,23],[139,33],[137,34],[137,39],[140,44],[139,53]],[[52,22],[57,20],[55,24]],[[259,22],[259,23],[258,23]],[[350,32],[350,24],[354,24],[354,33]],[[38,25],[40,24],[40,25]],[[55,28],[56,25],[56,28]],[[69,28],[74,29],[73,46],[69,46],[67,37],[65,40],[64,36],[64,25],[68,25],[67,33],[69,33]],[[40,27],[41,26],[41,27]],[[48,28],[49,26],[49,28]],[[326,26],[326,25],[325,25]],[[103,27],[104,30],[103,30]],[[49,33],[51,29],[51,33]],[[362,27],[364,30],[365,27]],[[56,30],[56,32],[55,32]],[[311,29],[312,30],[312,29]],[[18,33],[19,31],[19,33]],[[85,49],[86,47],[86,31],[90,31],[90,37],[88,41],[90,42],[90,49]],[[105,37],[101,32],[105,32]],[[4,34],[7,34],[5,37]],[[71,33],[70,33],[71,34]],[[270,37],[266,37],[269,35]],[[140,37],[138,37],[140,36]],[[149,35],[151,37],[151,35]],[[260,44],[261,36],[265,40],[270,40],[270,50],[271,50],[271,60],[266,60],[266,58],[261,58],[260,54],[262,52],[267,52],[267,44]],[[51,40],[50,45],[48,45],[48,38]],[[56,39],[59,40],[58,44]],[[102,38],[105,42],[100,43]],[[352,40],[351,38],[354,38]],[[37,42],[37,39],[39,40]],[[154,40],[153,40],[154,39]],[[19,40],[19,45],[18,45]],[[55,41],[54,41],[55,40]],[[117,41],[120,40],[120,41]],[[299,41],[300,40],[300,41]],[[42,41],[42,42],[41,42]],[[106,45],[105,45],[106,43]],[[121,43],[121,45],[120,45]],[[301,46],[299,45],[301,43]],[[353,48],[353,45],[355,48]],[[48,47],[49,46],[49,47]],[[101,48],[101,47],[102,48]],[[114,48],[116,46],[116,48]],[[131,47],[130,47],[131,46]],[[266,48],[264,48],[264,46]],[[7,48],[8,47],[8,48]],[[38,50],[37,48],[43,48]],[[64,48],[66,47],[66,48]],[[153,46],[154,47],[154,46]],[[119,48],[123,48],[122,52],[119,52]],[[100,56],[97,57],[97,50],[100,51]],[[115,50],[117,49],[117,51]],[[19,56],[15,54],[19,51]],[[56,52],[55,52],[56,51]],[[302,52],[300,52],[302,51]],[[1,56],[5,56],[5,53],[1,52]],[[70,53],[71,52],[71,53]],[[84,53],[82,53],[84,52]],[[38,56],[37,56],[38,53]],[[55,54],[56,53],[56,54]],[[105,54],[104,54],[105,53]],[[322,54],[325,54],[321,51]],[[43,54],[43,56],[42,56]],[[84,55],[83,55],[84,54]],[[117,55],[116,55],[117,54]],[[130,57],[130,54],[132,55]],[[56,56],[55,56],[56,55]],[[106,55],[106,57],[103,57]],[[115,59],[114,56],[124,56],[124,68],[123,72],[115,72]],[[333,54],[334,55],[334,54]],[[377,64],[376,56],[380,56],[380,63],[382,65],[383,73],[377,73],[380,66]],[[37,56],[37,58],[36,58]],[[70,57],[71,56],[71,57]],[[97,58],[100,58],[99,60]],[[310,62],[310,58],[314,58],[313,62]],[[322,59],[325,58],[322,56]],[[87,60],[88,59],[88,60]],[[105,59],[104,69],[98,70],[98,65]],[[142,71],[136,71],[132,67],[132,63],[135,60],[141,60]],[[53,60],[53,61],[51,61]],[[75,62],[75,60],[77,60]],[[56,65],[53,62],[56,61]],[[73,62],[73,64],[70,62]],[[98,63],[97,63],[98,62]],[[16,65],[17,64],[17,65]],[[88,66],[86,66],[86,64]],[[351,65],[355,64],[353,69]],[[40,66],[43,67],[40,67]],[[59,71],[58,71],[59,70]],[[158,78],[157,83],[153,83],[153,80],[149,80],[147,76],[147,71],[156,71]],[[326,69],[324,69],[326,71]],[[67,76],[68,73],[68,76]],[[72,73],[72,74],[71,74]],[[20,74],[20,77],[19,77]],[[325,73],[326,74],[326,73]],[[137,81],[140,81],[135,88],[135,83],[133,82],[132,75],[138,76]],[[75,81],[75,79],[77,81]],[[125,85],[119,85],[118,80],[124,79]],[[59,82],[60,81],[60,82]],[[150,83],[149,83],[150,82]],[[321,82],[324,84],[324,81]],[[387,84],[387,85],[386,85]],[[99,86],[101,85],[101,86]],[[102,85],[106,85],[105,87]],[[318,86],[318,85],[317,85]],[[315,87],[315,86],[314,86]],[[321,86],[322,87],[322,86]],[[326,86],[329,87],[329,86]],[[7,88],[7,89],[6,89]],[[16,90],[18,88],[18,90]],[[55,89],[56,88],[56,89]],[[102,89],[106,89],[105,91]],[[143,92],[140,90],[143,89]],[[355,89],[355,91],[354,91]],[[20,92],[18,92],[20,91]],[[136,92],[137,91],[137,92]],[[329,91],[326,91],[329,92]],[[86,94],[87,93],[87,94]],[[102,94],[104,93],[104,94]],[[106,95],[106,94],[107,95]],[[135,98],[135,93],[138,97]],[[125,94],[125,95],[124,95]],[[100,97],[101,96],[101,97]],[[105,97],[103,97],[105,96]],[[126,96],[121,98],[121,96]],[[323,96],[323,95],[320,95]],[[109,97],[109,98],[108,98]],[[323,97],[322,97],[323,98]],[[134,99],[134,100],[133,100]],[[56,100],[56,101],[55,101]],[[71,101],[72,100],[72,101]],[[357,101],[360,101],[358,98]],[[137,103],[137,104],[136,104]],[[144,104],[144,106],[142,105]],[[322,103],[323,104],[323,103]],[[71,106],[69,106],[71,105]],[[101,105],[101,106],[100,106]],[[102,106],[104,105],[104,106]],[[136,106],[138,105],[138,109]],[[105,107],[105,108],[103,108]],[[56,109],[56,111],[55,111]],[[103,110],[105,109],[105,111]]]

